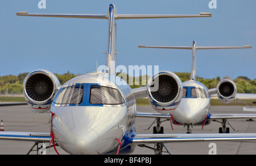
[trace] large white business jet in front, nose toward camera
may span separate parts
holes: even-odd
[[[202,140],[251,140],[256,134],[137,134],[135,132],[135,98],[146,96],[146,89],[131,89],[129,85],[117,85],[110,77],[115,76],[116,26],[117,19],[209,17],[200,15],[126,15],[117,14],[114,5],[108,14],[28,14],[20,16],[49,16],[64,18],[106,19],[109,24],[106,70],[104,73],[86,74],[72,78],[60,86],[57,78],[47,70],[35,70],[24,80],[24,96],[34,110],[51,111],[51,131],[0,132],[0,139],[31,140],[50,142],[70,154],[132,153],[135,146],[156,144],[156,153],[162,153],[164,143]],[[178,86],[174,98],[160,105],[175,108],[181,99],[183,87],[171,72],[160,72],[156,77],[166,77]],[[173,93],[173,92],[171,92]],[[145,95],[146,94],[146,95]],[[175,100],[174,100],[175,99]],[[157,101],[155,101],[157,102]],[[44,146],[43,146],[44,147]],[[40,147],[39,147],[40,148]]]

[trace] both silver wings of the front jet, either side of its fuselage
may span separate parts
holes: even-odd
[[[51,136],[44,132],[0,132],[0,139],[29,140],[36,142],[50,142]],[[195,142],[218,140],[256,140],[256,134],[137,134],[132,138],[133,144]]]

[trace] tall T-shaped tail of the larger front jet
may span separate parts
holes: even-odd
[[[25,12],[17,12],[19,16],[45,16],[45,17],[61,17],[61,18],[88,18],[88,19],[108,19],[108,50],[106,52],[106,72],[115,74],[117,61],[116,47],[116,31],[117,19],[150,19],[150,18],[195,18],[195,17],[210,17],[210,13],[200,14],[117,14],[115,5],[109,5],[108,14],[28,14]]]

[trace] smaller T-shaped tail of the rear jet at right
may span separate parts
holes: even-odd
[[[196,81],[196,49],[232,49],[232,48],[251,48],[251,45],[245,45],[245,47],[203,47],[196,46],[196,41],[193,41],[192,47],[184,46],[145,46],[139,45],[140,48],[170,48],[170,49],[192,49],[192,68],[191,68],[191,80]]]

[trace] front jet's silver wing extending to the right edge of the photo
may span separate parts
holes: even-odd
[[[137,134],[133,144],[221,141],[221,140],[256,140],[256,134]]]

